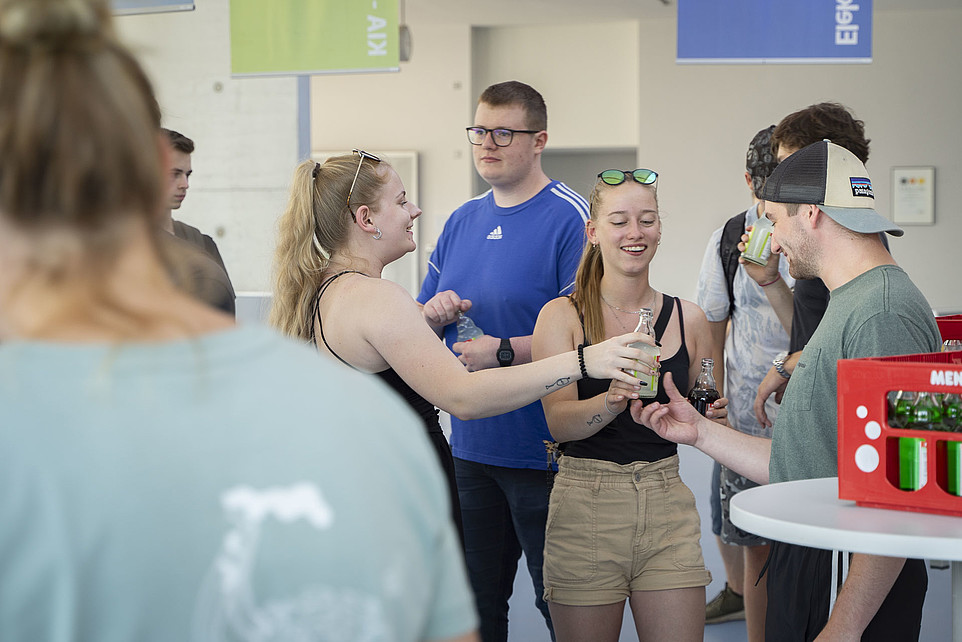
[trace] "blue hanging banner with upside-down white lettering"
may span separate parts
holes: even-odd
[[[872,0],[678,0],[679,63],[869,63]]]

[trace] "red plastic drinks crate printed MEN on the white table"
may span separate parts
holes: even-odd
[[[943,339],[962,339],[962,315],[939,317],[938,323]],[[962,351],[838,362],[839,498],[860,506],[962,517],[962,497],[955,494],[962,432],[892,427],[888,394],[893,390],[962,394]],[[915,490],[900,488],[902,437],[920,440],[912,444],[921,453]]]

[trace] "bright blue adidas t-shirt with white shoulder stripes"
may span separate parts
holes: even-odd
[[[552,181],[515,207],[498,207],[491,191],[459,207],[444,225],[418,295],[426,302],[454,290],[472,302],[468,316],[495,337],[534,331],[545,303],[570,294],[585,244],[588,203]],[[450,347],[456,324],[445,328]],[[451,418],[455,457],[509,468],[543,468],[551,439],[541,402],[486,419]]]

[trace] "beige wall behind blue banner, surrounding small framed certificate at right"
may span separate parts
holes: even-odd
[[[823,100],[848,105],[871,138],[868,170],[879,212],[891,217],[891,168],[936,167],[936,225],[907,226],[896,260],[933,307],[962,309],[962,8],[876,11],[870,65],[686,66],[674,64],[676,21],[641,24],[646,61],[639,114],[642,166],[661,172],[668,215],[658,285],[694,294],[698,260],[713,228],[750,204],[741,179],[756,131]],[[954,69],[954,71],[953,71]],[[646,164],[647,163],[647,164]]]

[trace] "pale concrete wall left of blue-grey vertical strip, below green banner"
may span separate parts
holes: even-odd
[[[117,26],[154,82],[164,125],[197,145],[174,218],[214,237],[235,290],[269,289],[275,221],[298,160],[296,79],[230,77],[228,0]]]

